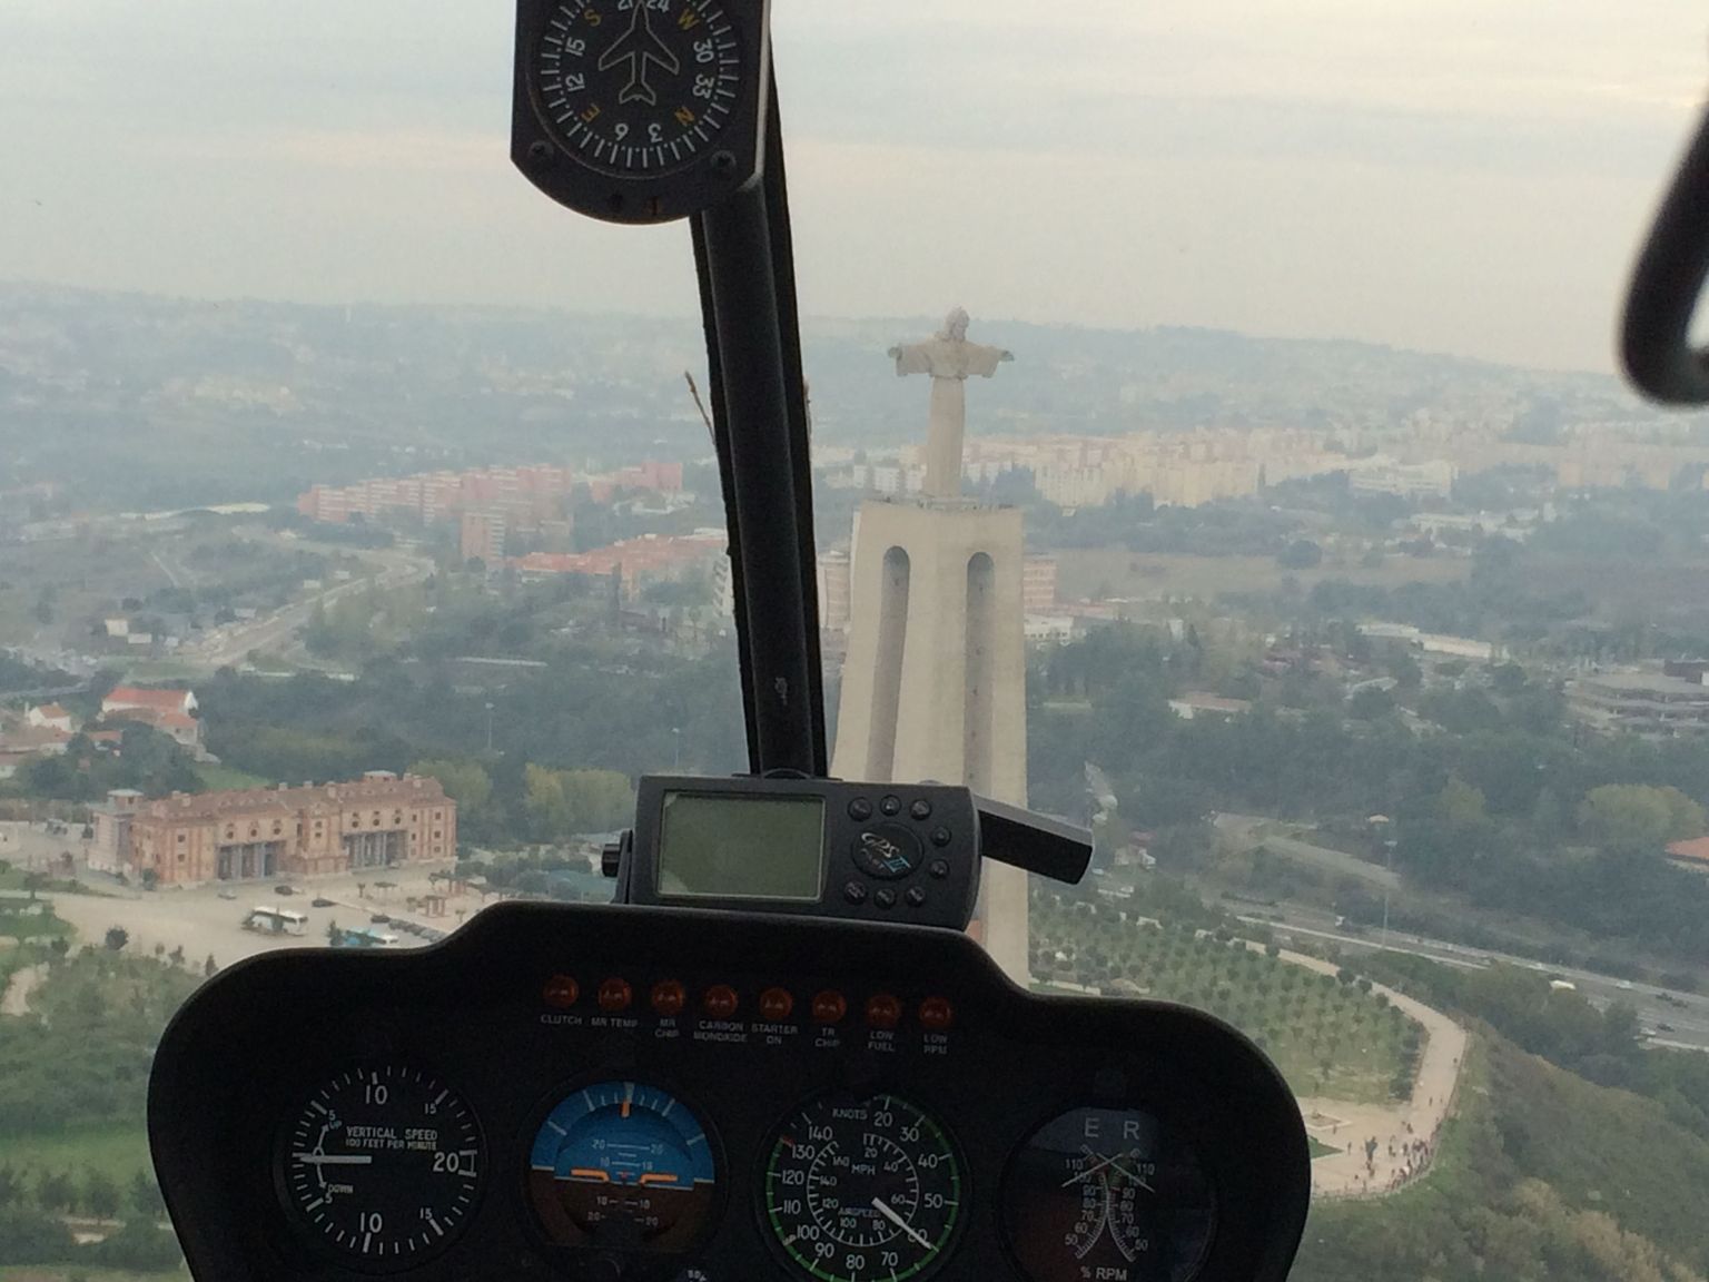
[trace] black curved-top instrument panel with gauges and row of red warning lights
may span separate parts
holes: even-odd
[[[150,1080],[205,1282],[1282,1279],[1292,1096],[1227,1026],[945,930],[501,904],[203,986]]]

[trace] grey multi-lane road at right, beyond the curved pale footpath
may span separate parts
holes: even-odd
[[[1386,949],[1389,952],[1408,952],[1420,957],[1448,962],[1449,966],[1489,966],[1504,962],[1519,966],[1538,974],[1565,979],[1574,985],[1591,1003],[1600,1009],[1612,1002],[1625,1002],[1637,1009],[1639,1026],[1651,1043],[1658,1046],[1675,1046],[1680,1050],[1709,1050],[1709,997],[1699,993],[1677,993],[1654,985],[1618,979],[1612,974],[1596,974],[1572,966],[1545,966],[1530,957],[1516,957],[1494,949],[1473,949],[1466,944],[1381,930],[1350,935],[1335,926],[1333,914],[1301,906],[1280,906],[1275,913],[1263,916],[1242,916],[1242,921],[1266,925],[1280,933],[1292,933],[1302,938],[1318,938],[1352,950]],[[1666,1027],[1663,1027],[1666,1026]]]

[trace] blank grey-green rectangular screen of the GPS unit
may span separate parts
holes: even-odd
[[[819,797],[665,793],[658,894],[817,901],[825,803]]]

